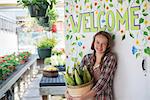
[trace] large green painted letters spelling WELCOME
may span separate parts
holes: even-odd
[[[135,13],[139,10],[140,6],[134,6],[129,9],[127,8],[123,15],[117,9],[115,9],[115,11],[110,9],[107,12],[101,10],[96,12],[84,12],[79,13],[76,24],[72,15],[69,16],[69,21],[71,22],[74,33],[105,31],[106,28],[108,31],[114,31],[115,29],[119,31],[121,29],[120,24],[125,25],[126,30],[139,30],[140,24],[136,24],[135,22],[139,16],[139,14]],[[105,17],[103,20],[105,22],[105,26],[103,27],[101,26],[102,17]],[[89,26],[87,26],[88,24]]]

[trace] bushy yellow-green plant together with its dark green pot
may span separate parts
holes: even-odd
[[[41,59],[44,59],[46,57],[51,56],[51,50],[52,48],[57,44],[55,38],[47,38],[43,37],[41,40],[37,42],[37,50],[39,57]]]

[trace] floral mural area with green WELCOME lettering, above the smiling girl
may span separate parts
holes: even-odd
[[[112,33],[114,40],[130,37],[134,41],[129,48],[133,56],[150,56],[149,13],[148,0],[65,0],[68,62],[80,62],[98,31]]]

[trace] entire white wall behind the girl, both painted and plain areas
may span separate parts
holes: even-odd
[[[143,11],[148,15],[143,15]],[[150,58],[144,52],[150,46],[149,11],[147,0],[65,0],[66,66],[72,67],[75,57],[80,62],[82,57],[79,53],[84,55],[91,52],[92,36],[99,31],[94,30],[99,27],[99,22],[102,27],[106,26],[106,31],[111,31],[115,36],[114,51],[118,55],[118,69],[114,80],[115,100],[149,100],[150,71],[142,69],[142,60]],[[110,15],[106,16],[108,13]],[[99,14],[102,17],[98,19]],[[121,22],[119,18],[126,20],[124,25],[117,24]],[[109,27],[112,29],[108,30]],[[144,32],[148,35],[144,35]],[[137,50],[133,53],[134,46]],[[146,59],[146,62],[149,60]],[[150,69],[150,63],[145,67]]]

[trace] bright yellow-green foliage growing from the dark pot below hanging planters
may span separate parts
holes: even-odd
[[[57,44],[55,38],[44,37],[37,42],[37,48],[53,48]]]

